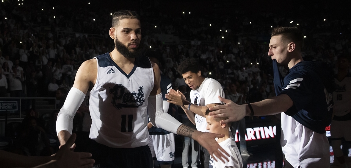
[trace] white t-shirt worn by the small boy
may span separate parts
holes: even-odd
[[[230,137],[223,142],[218,143],[220,147],[222,147],[229,155],[229,162],[223,163],[217,157],[217,162],[214,161],[212,156],[210,156],[210,167],[213,168],[243,168],[243,160],[241,159],[241,155],[237,144],[235,143],[234,138]],[[224,154],[224,153],[223,153]]]

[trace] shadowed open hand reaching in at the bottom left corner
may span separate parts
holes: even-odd
[[[57,161],[58,167],[66,168],[90,168],[93,167],[94,159],[89,159],[92,154],[86,152],[74,152],[72,147],[75,147],[76,135],[73,133],[71,137],[69,137],[66,144],[60,146],[60,149],[57,151],[55,155],[53,155],[53,160]]]

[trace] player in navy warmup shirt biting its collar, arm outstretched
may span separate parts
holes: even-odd
[[[287,168],[328,168],[329,142],[325,127],[333,111],[332,78],[318,63],[302,59],[303,34],[297,27],[273,29],[268,55],[273,60],[274,85],[278,96],[263,101],[211,107],[210,115],[229,117],[221,123],[238,121],[244,116],[281,113],[281,146]],[[289,74],[283,79],[278,66]]]

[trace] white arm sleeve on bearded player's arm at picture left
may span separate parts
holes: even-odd
[[[56,133],[66,130],[72,135],[73,117],[79,106],[84,101],[85,94],[77,88],[72,87],[68,92],[64,105],[57,115]]]

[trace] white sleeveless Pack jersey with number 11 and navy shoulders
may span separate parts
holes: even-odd
[[[154,87],[150,60],[135,59],[134,68],[127,75],[109,53],[94,59],[98,76],[90,92],[90,138],[113,148],[147,145],[147,98]]]

